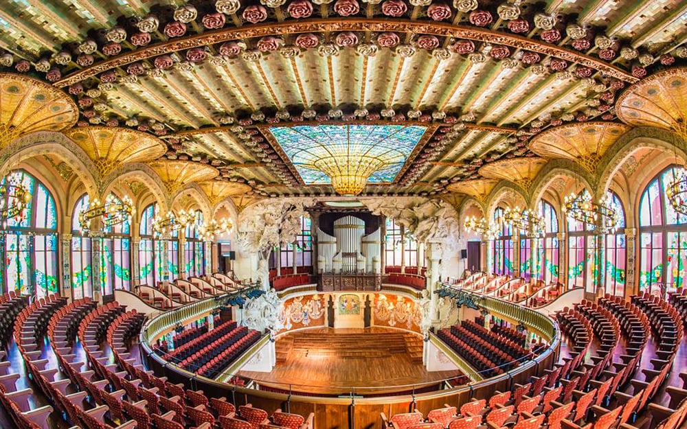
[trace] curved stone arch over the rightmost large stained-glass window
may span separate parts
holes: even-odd
[[[625,132],[616,143],[607,150],[605,156],[602,158],[600,165],[602,170],[599,176],[599,183],[602,189],[608,189],[620,167],[627,161],[627,159],[636,151],[640,149],[658,149],[675,157],[674,161],[685,163],[687,161],[687,152],[679,146],[670,143],[677,137],[668,130],[661,128],[653,128],[642,126],[632,128]],[[647,182],[648,183],[648,182]]]

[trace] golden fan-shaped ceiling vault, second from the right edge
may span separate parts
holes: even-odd
[[[601,156],[629,130],[624,124],[586,122],[557,126],[532,139],[530,150],[545,158],[572,159],[593,173]]]

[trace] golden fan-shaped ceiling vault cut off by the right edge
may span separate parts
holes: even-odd
[[[687,67],[655,73],[625,90],[616,102],[620,120],[671,130],[687,145]]]

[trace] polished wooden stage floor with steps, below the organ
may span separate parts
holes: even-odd
[[[412,390],[462,375],[460,371],[429,372],[409,348],[421,338],[396,329],[315,328],[286,334],[277,340],[278,363],[269,373],[240,371],[238,375],[261,380],[278,389],[310,393],[381,393]],[[414,337],[414,338],[413,338]],[[412,341],[411,341],[412,340]],[[361,389],[370,386],[374,389]],[[388,386],[407,386],[386,389]]]

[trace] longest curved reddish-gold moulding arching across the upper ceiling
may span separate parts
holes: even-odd
[[[308,21],[282,22],[282,23],[262,23],[257,25],[247,25],[245,27],[234,27],[195,34],[184,38],[168,40],[164,43],[157,43],[149,47],[144,47],[127,54],[115,56],[109,60],[98,62],[94,65],[81,69],[63,79],[55,82],[55,86],[63,88],[87,78],[102,73],[103,71],[121,67],[138,60],[152,58],[161,54],[213,45],[214,43],[226,42],[243,38],[253,38],[262,36],[285,36],[287,34],[301,34],[311,32],[404,32],[409,34],[431,34],[433,36],[463,38],[477,40],[480,42],[496,43],[507,45],[519,49],[534,51],[545,56],[553,56],[570,62],[591,67],[607,76],[624,80],[625,82],[638,82],[638,78],[631,73],[624,71],[607,62],[593,58],[592,56],[581,54],[549,43],[531,40],[525,36],[506,34],[482,28],[466,27],[464,25],[453,25],[451,23],[409,21],[409,20],[389,20],[389,19],[311,19]]]

